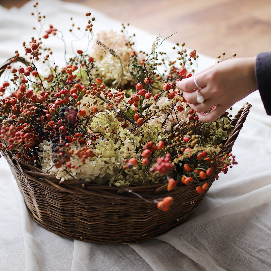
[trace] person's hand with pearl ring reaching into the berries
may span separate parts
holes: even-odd
[[[255,61],[256,57],[228,59],[196,73],[203,103],[197,102],[193,76],[180,80],[176,86],[183,90],[183,97],[196,111],[200,121],[214,121],[235,102],[257,90]],[[204,112],[212,107],[210,112]]]

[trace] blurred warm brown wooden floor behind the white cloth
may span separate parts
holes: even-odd
[[[239,57],[271,51],[270,0],[66,1],[92,7],[163,38],[177,32],[171,41],[184,41],[188,48],[211,57],[223,51]],[[25,2],[0,0],[7,8]]]

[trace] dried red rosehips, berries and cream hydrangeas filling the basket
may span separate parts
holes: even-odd
[[[38,11],[33,15],[39,22],[45,18]],[[218,155],[233,127],[230,113],[201,123],[175,87],[195,72],[196,51],[188,53],[177,43],[172,60],[158,52],[160,37],[149,54],[137,51],[124,25],[121,33],[101,31],[94,39],[95,18],[90,12],[86,18],[86,49],[74,52],[64,67],[54,64],[44,45],[53,36],[63,39],[50,25],[23,44],[24,57],[16,51],[0,68],[5,78],[0,149],[56,176],[60,184],[164,183],[170,191],[197,183],[196,191],[203,193],[206,178],[217,179],[236,162],[231,153]],[[172,201],[154,203],[167,211]]]

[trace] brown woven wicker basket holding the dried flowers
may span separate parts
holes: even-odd
[[[233,119],[235,125],[223,152],[230,152],[250,111],[245,104]],[[59,185],[54,176],[5,154],[33,220],[44,228],[77,240],[107,244],[135,244],[164,234],[185,221],[199,206],[207,190],[199,194],[195,185],[138,186],[128,189],[75,182]],[[222,155],[222,154],[221,154]],[[214,178],[206,180],[209,187]],[[133,191],[133,193],[131,193]],[[146,202],[172,196],[173,204],[163,212]]]

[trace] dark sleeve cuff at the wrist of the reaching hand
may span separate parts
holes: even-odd
[[[271,115],[271,52],[257,55],[255,75],[264,108]]]

